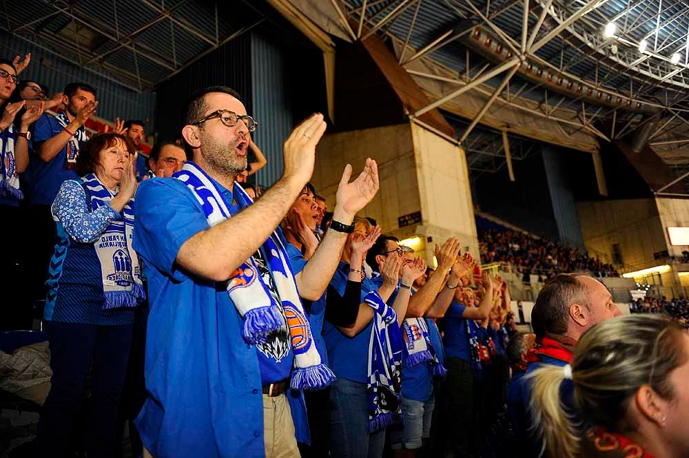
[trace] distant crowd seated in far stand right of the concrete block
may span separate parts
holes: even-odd
[[[525,276],[533,273],[545,280],[557,273],[577,271],[588,271],[599,278],[619,276],[613,265],[546,237],[537,238],[507,228],[485,229],[478,235],[481,262],[510,264]]]

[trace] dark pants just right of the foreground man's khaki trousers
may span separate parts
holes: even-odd
[[[304,391],[311,446],[298,444],[302,458],[327,458],[330,454],[330,387]]]

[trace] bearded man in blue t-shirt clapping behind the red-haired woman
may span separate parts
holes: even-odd
[[[88,140],[84,127],[95,112],[96,90],[86,83],[65,87],[62,103],[66,111],[55,116],[44,113],[34,125],[33,152],[29,165],[28,203],[32,237],[31,277],[36,282],[34,298],[45,298],[45,279],[55,240],[55,223],[50,205],[65,180],[78,180],[76,156]]]

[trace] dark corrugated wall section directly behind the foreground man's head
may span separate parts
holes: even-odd
[[[156,87],[159,139],[180,135],[183,102],[192,92],[211,85],[232,87],[239,92],[247,112],[251,113],[251,34],[229,41]]]

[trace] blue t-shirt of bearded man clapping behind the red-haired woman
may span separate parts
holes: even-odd
[[[79,130],[85,129],[83,126]],[[54,116],[44,113],[34,124],[32,141],[34,145],[44,142],[63,131],[63,127]],[[84,143],[79,143],[83,148]],[[30,181],[28,189],[28,201],[30,205],[50,205],[55,200],[57,191],[65,180],[77,180],[74,169],[67,168],[67,148],[69,143],[47,163],[39,158],[38,153],[32,154],[30,167]]]

